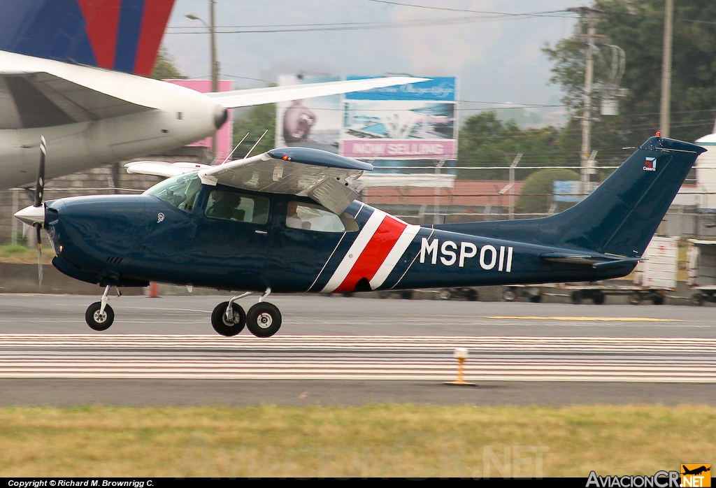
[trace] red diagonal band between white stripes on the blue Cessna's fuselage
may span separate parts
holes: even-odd
[[[368,281],[372,280],[405,228],[407,228],[405,223],[386,215],[346,279],[334,290],[334,293],[353,291],[362,278],[366,278]]]

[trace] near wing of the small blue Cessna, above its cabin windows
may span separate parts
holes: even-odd
[[[352,180],[370,171],[367,162],[308,147],[283,147],[245,160],[200,170],[207,185],[310,197],[342,213],[358,196]]]

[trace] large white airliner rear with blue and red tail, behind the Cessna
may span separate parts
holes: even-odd
[[[387,77],[201,94],[151,72],[174,0],[0,3],[0,190],[173,150],[227,109],[425,81]],[[68,40],[69,39],[69,40]]]

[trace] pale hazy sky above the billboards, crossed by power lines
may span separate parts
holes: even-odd
[[[177,0],[164,44],[189,77],[208,77],[208,0]],[[461,118],[475,102],[558,104],[558,87],[548,85],[551,63],[545,44],[572,34],[574,14],[559,12],[586,0],[218,0],[218,59],[223,77],[236,87],[261,87],[279,74],[321,73],[459,78]],[[432,9],[412,4],[433,7]],[[555,12],[540,16],[495,16]],[[246,32],[247,30],[358,27],[352,30]],[[324,25],[316,25],[324,24]],[[329,24],[329,25],[325,25]],[[337,25],[341,24],[341,25]],[[390,28],[369,28],[372,26]],[[399,25],[400,27],[395,27]],[[228,28],[226,28],[228,27]],[[258,28],[258,29],[257,29]],[[195,31],[195,34],[187,33]],[[184,33],[182,33],[184,32]],[[243,78],[242,78],[243,77]],[[264,81],[258,81],[264,80]],[[499,106],[499,105],[495,105]],[[551,116],[548,115],[551,113]],[[561,109],[543,109],[554,119]],[[505,112],[516,113],[516,112]]]

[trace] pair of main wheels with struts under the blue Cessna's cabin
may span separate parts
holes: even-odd
[[[258,303],[244,313],[236,303],[239,298],[251,295],[251,292],[237,295],[228,302],[219,303],[211,313],[211,325],[222,336],[236,336],[246,326],[256,337],[271,337],[281,328],[281,312],[273,303],[263,301],[271,293],[271,288],[258,298]]]

